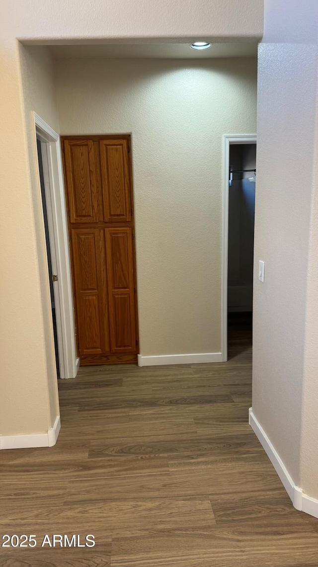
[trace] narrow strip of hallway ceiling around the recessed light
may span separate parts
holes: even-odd
[[[256,57],[257,43],[214,43],[204,50],[182,43],[50,45],[54,59],[66,58],[146,58],[213,59],[218,57]]]

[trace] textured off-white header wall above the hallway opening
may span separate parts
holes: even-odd
[[[221,41],[260,39],[263,0],[3,0],[18,39],[88,43],[94,40]],[[145,42],[147,43],[147,41]]]

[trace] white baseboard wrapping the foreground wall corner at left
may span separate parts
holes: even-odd
[[[28,435],[1,435],[0,449],[24,449],[31,447],[52,447],[57,442],[61,420],[57,416],[53,428],[48,433],[31,433]]]

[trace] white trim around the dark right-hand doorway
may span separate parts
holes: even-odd
[[[221,291],[221,351],[227,361],[227,260],[229,256],[229,168],[230,145],[256,143],[256,134],[223,136],[223,199],[222,199],[222,291]]]

